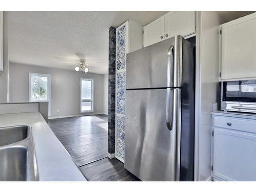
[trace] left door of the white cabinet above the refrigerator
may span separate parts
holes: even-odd
[[[144,30],[144,47],[164,40],[164,16],[147,24]]]

